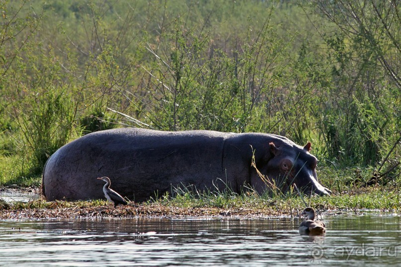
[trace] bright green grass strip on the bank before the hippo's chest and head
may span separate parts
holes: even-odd
[[[324,184],[324,182],[323,182]],[[242,195],[232,192],[226,193],[193,193],[186,190],[178,190],[173,198],[163,196],[149,202],[159,203],[165,206],[194,208],[194,207],[216,207],[222,209],[238,208],[264,208],[275,206],[277,209],[288,210],[289,208],[302,209],[305,207],[304,200],[308,205],[323,209],[399,209],[399,188],[396,186],[373,186],[360,188],[357,186],[347,187],[341,185],[341,190],[333,189],[331,196],[307,196],[300,197],[298,194],[269,194],[259,196],[249,191]]]

